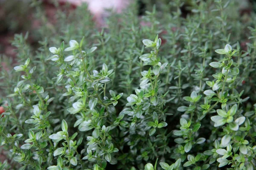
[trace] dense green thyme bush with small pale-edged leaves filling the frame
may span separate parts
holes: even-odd
[[[16,35],[0,169],[256,169],[255,14],[235,0],[182,6],[140,18],[134,3],[100,31],[86,6],[58,10],[38,48]]]

